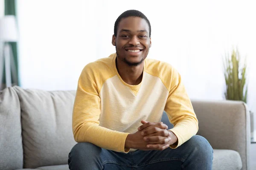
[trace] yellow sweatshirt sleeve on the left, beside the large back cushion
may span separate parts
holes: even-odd
[[[90,142],[96,146],[117,152],[128,153],[125,149],[125,140],[129,133],[110,130],[99,126],[100,97],[102,85],[95,65],[84,67],[78,81],[76,98],[73,107],[73,135],[76,142]]]

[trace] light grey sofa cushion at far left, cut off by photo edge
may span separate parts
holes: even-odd
[[[0,91],[0,170],[23,166],[20,102],[14,88]]]

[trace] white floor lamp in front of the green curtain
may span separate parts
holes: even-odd
[[[6,15],[0,19],[0,90],[3,89],[3,72],[5,68],[6,87],[12,86],[12,77],[17,79],[12,46],[9,42],[17,42],[17,25],[15,16]]]

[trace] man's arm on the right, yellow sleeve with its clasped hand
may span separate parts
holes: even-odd
[[[152,149],[159,147],[158,143],[163,137],[171,138],[169,141],[170,147],[176,148],[189,140],[198,131],[198,120],[185,87],[181,82],[180,74],[171,66],[166,67],[164,70],[165,76],[163,76],[162,81],[169,90],[164,110],[170,122],[174,124],[174,128],[169,129],[169,133],[167,133],[167,130],[163,128],[164,124],[142,121],[143,125],[138,130],[143,133],[144,139],[157,142],[157,144],[150,144]]]

